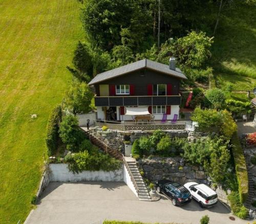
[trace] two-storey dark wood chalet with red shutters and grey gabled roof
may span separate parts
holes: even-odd
[[[152,115],[155,121],[179,116],[180,82],[187,79],[176,68],[143,59],[95,76],[89,85],[95,91],[97,120],[133,121],[136,115]]]

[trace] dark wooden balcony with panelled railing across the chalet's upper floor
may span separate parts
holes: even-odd
[[[180,105],[181,95],[176,96],[114,96],[95,97],[95,106],[148,106]]]

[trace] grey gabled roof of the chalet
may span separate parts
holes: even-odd
[[[104,81],[107,79],[112,79],[114,77],[121,76],[121,75],[130,73],[130,72],[134,72],[136,70],[140,70],[143,68],[155,70],[157,72],[175,76],[175,77],[178,77],[181,79],[187,79],[187,77],[178,68],[176,68],[176,71],[174,71],[174,70],[169,69],[169,65],[162,64],[162,63],[148,60],[148,59],[142,59],[140,61],[136,61],[131,64],[126,64],[119,68],[100,73],[100,74],[96,75],[91,80],[91,82],[89,82],[89,85],[93,85],[95,83],[98,83],[98,82],[101,82],[101,81]]]

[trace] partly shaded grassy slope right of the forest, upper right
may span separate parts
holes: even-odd
[[[252,91],[256,87],[256,6],[242,5],[226,8],[215,37],[213,60],[217,84],[233,91]],[[246,94],[236,97],[243,99]]]

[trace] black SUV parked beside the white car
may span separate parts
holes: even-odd
[[[163,193],[172,200],[174,206],[187,204],[192,199],[190,192],[177,182],[169,180],[157,181],[156,190],[158,193]]]

